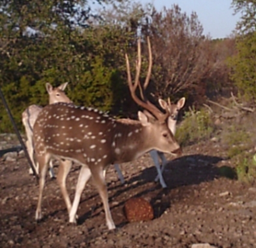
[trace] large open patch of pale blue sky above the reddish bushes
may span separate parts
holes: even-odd
[[[195,11],[198,20],[203,25],[204,34],[212,38],[225,38],[236,28],[239,15],[233,15],[231,1],[227,0],[138,0],[142,4],[150,2],[157,10],[163,6],[171,8],[173,4],[178,4],[182,12],[190,15]]]

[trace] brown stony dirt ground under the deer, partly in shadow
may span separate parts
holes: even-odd
[[[24,157],[0,162],[0,247],[171,247],[195,243],[216,247],[256,247],[256,186],[219,176],[218,167],[230,166],[221,143],[207,140],[184,147],[164,173],[167,189],[154,183],[156,169],[150,156],[121,165],[126,184],[114,167],[107,173],[109,204],[117,228],[108,231],[102,202],[93,182],[82,194],[78,225],[69,225],[66,205],[56,180],[47,177],[43,220],[35,222],[38,185],[28,174]],[[55,167],[55,172],[58,167]],[[75,193],[79,167],[68,177]],[[154,219],[128,223],[124,203],[142,196],[153,205]]]

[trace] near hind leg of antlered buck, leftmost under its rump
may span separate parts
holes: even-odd
[[[37,161],[40,169],[40,179],[39,179],[39,196],[38,196],[37,210],[35,211],[35,220],[40,220],[42,217],[41,204],[42,204],[42,198],[43,198],[43,188],[44,188],[44,183],[46,178],[46,172],[49,164],[49,155],[44,154],[42,156],[41,155],[37,156]]]

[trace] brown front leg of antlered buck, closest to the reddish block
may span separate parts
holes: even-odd
[[[105,215],[106,215],[106,224],[108,226],[108,229],[109,230],[115,229],[115,223],[112,219],[111,212],[109,209],[108,190],[107,190],[105,179],[103,176],[103,169],[100,167],[95,168],[94,170],[92,170],[92,176],[93,176],[95,185],[99,191],[100,198],[102,198]]]

